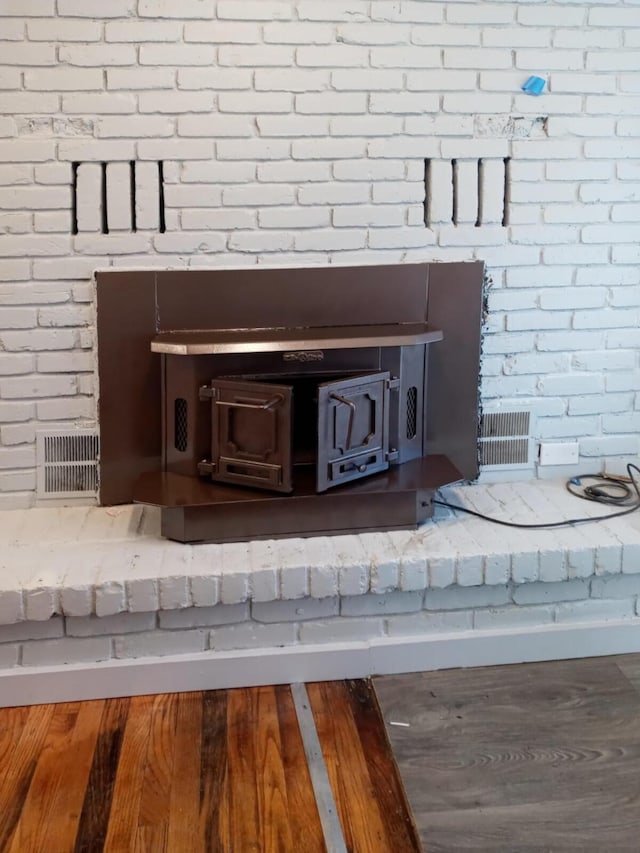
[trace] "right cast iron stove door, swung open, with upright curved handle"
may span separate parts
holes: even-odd
[[[318,386],[318,492],[389,467],[389,385],[383,372]]]

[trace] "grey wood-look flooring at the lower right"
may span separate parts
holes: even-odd
[[[374,686],[429,853],[640,851],[640,655]]]

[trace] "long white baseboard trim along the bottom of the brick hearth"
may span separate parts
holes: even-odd
[[[639,651],[637,622],[620,620],[15,667],[0,672],[0,707],[297,681],[331,681]]]

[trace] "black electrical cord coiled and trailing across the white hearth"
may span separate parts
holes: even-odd
[[[550,527],[569,527],[574,524],[586,524],[588,521],[606,521],[608,518],[619,518],[622,515],[630,515],[640,508],[640,485],[634,473],[640,476],[640,468],[633,465],[631,462],[627,465],[627,477],[611,477],[608,474],[584,474],[581,477],[573,477],[566,483],[567,490],[577,498],[582,498],[587,501],[595,501],[596,503],[608,504],[609,506],[626,506],[625,509],[618,512],[611,512],[608,515],[588,516],[582,518],[568,518],[565,521],[551,521],[540,524],[519,524],[517,521],[505,521],[502,518],[494,518],[490,515],[484,515],[474,509],[469,509],[465,506],[458,506],[449,503],[448,501],[434,500],[433,503],[438,506],[445,506],[448,509],[456,510],[457,512],[466,512],[468,515],[474,515],[476,518],[482,518],[484,521],[492,521],[494,524],[502,524],[504,527],[524,527],[529,530],[541,530]],[[583,484],[583,480],[590,481],[587,485]],[[631,488],[633,486],[633,490]],[[635,495],[634,495],[635,491]]]

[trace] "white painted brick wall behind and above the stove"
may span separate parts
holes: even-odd
[[[0,7],[2,506],[33,501],[39,425],[92,423],[93,320],[80,303],[94,269],[134,263],[486,259],[484,400],[508,395],[517,408],[526,398],[535,438],[577,439],[587,465],[636,458],[640,14],[626,0],[543,11],[509,0]],[[547,81],[539,98],[520,91],[530,74]],[[131,160],[138,234],[129,233]],[[81,164],[76,236],[71,162]],[[54,302],[59,316],[44,310]],[[550,351],[563,356],[559,367]],[[514,362],[516,353],[526,358]],[[410,591],[427,567],[403,560]],[[445,583],[452,569],[429,571]],[[471,579],[478,567],[456,571]],[[255,580],[265,597],[272,582],[268,570]],[[374,583],[327,564],[303,586],[331,595],[360,582]],[[203,604],[246,594],[239,577],[222,591],[207,584],[195,587]],[[104,592],[105,615],[119,594]]]

